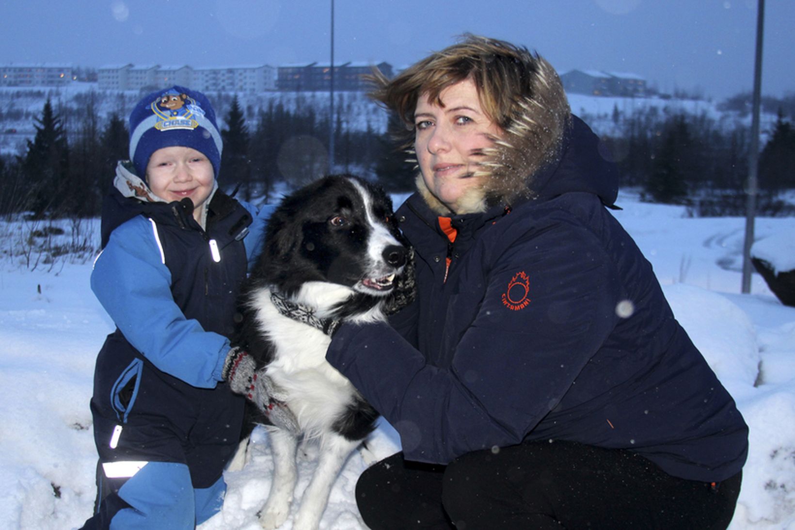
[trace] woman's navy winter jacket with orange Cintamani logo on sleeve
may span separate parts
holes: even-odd
[[[327,359],[409,460],[557,439],[634,450],[677,477],[731,477],[747,426],[605,207],[615,169],[572,119],[535,197],[443,220],[452,242],[409,197],[397,216],[417,252],[417,301],[394,329],[340,326]]]

